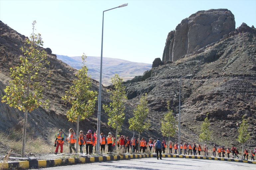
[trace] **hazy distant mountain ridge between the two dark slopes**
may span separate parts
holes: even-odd
[[[68,57],[65,55],[57,55],[57,59],[77,70],[83,65],[80,56]],[[100,57],[87,56],[85,65],[88,68],[88,74],[91,78],[99,81]],[[102,84],[111,85],[111,78],[114,77],[115,74],[118,74],[124,81],[131,80],[135,76],[142,75],[145,71],[150,70],[151,66],[152,64],[103,57]]]

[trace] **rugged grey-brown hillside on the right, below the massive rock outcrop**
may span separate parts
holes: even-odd
[[[164,63],[155,60],[158,67],[125,84],[130,103],[137,103],[142,94],[148,93],[153,132],[158,133],[168,100],[174,113],[179,113],[179,78],[192,74],[181,79],[182,141],[198,141],[200,125],[209,113],[211,143],[239,146],[237,128],[245,116],[251,136],[246,145],[255,147],[256,29],[243,23],[221,41],[181,58]]]

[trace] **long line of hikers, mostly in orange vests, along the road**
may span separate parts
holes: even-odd
[[[103,133],[100,134],[100,151],[102,153],[105,152],[105,145],[108,146],[108,152],[113,152],[113,150],[115,149],[115,142],[116,142],[116,138],[109,132],[108,136],[106,137]],[[69,135],[67,138],[65,138],[65,134],[62,132],[62,129],[59,130],[59,133],[56,136],[56,140],[55,140],[55,146],[56,146],[56,150],[55,150],[55,154],[58,153],[59,150],[59,146],[61,147],[60,152],[63,153],[63,144],[64,141],[69,143],[69,152],[72,153],[72,149],[74,150],[74,152],[76,151],[75,149],[75,143],[76,143],[76,135],[74,133],[74,130],[72,128],[69,129]],[[86,154],[92,154],[93,153],[93,147],[95,148],[95,152],[96,152],[96,142],[97,142],[97,132],[94,134],[92,134],[91,130],[88,130],[87,134],[84,135],[83,131],[80,131],[80,134],[78,136],[78,144],[80,146],[80,154],[83,154],[83,146],[85,145],[86,148]],[[169,143],[166,143],[165,140],[163,140],[162,142],[160,141],[160,139],[158,139],[157,141],[153,141],[151,138],[149,139],[148,142],[146,142],[146,140],[144,138],[142,138],[140,141],[137,140],[136,138],[133,139],[133,137],[131,138],[131,140],[129,139],[129,137],[125,137],[123,135],[121,135],[120,137],[118,137],[117,139],[117,148],[119,149],[124,149],[124,152],[128,152],[130,148],[132,149],[132,152],[143,152],[145,153],[146,149],[149,148],[149,151],[153,151],[153,153],[157,153],[157,158],[160,159],[162,158],[162,151],[163,153],[166,152],[166,148],[169,148],[169,152],[173,153],[173,149],[174,149],[174,154],[179,154],[179,149],[180,149],[180,153],[182,154],[182,151],[184,151],[184,155],[186,154],[191,154],[192,155],[192,151],[193,151],[193,155],[201,155],[201,151],[204,152],[204,156],[209,156],[208,155],[208,147],[206,145],[204,145],[204,147],[202,148],[202,146],[200,144],[196,145],[196,143],[180,143],[178,144],[177,142],[173,143],[172,141],[169,141]],[[187,152],[188,151],[188,152]],[[225,157],[225,153],[227,153],[227,157],[229,158],[229,154],[232,152],[232,158],[238,158],[238,150],[236,147],[232,146],[231,149],[229,147],[225,148],[224,146],[217,146],[214,144],[212,147],[212,154],[214,157],[216,157],[216,152],[218,152],[218,157]],[[253,151],[250,151],[250,156],[251,156],[251,160],[254,160],[254,156],[256,153],[256,149]],[[222,154],[222,155],[221,155]],[[249,155],[249,151],[247,149],[244,149],[244,159],[245,157],[248,160],[248,155]]]

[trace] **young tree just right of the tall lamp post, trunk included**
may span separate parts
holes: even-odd
[[[125,87],[122,85],[122,83],[123,79],[119,78],[119,76],[115,74],[115,76],[112,78],[112,85],[114,87],[114,90],[108,90],[108,92],[110,91],[111,93],[110,100],[112,102],[109,103],[109,106],[107,104],[103,105],[103,109],[108,115],[108,125],[116,129],[116,139],[118,131],[122,130],[121,126],[123,125],[125,118],[124,102],[127,97],[125,94]],[[116,142],[117,140],[115,141],[115,145]]]

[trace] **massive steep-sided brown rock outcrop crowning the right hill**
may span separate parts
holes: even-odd
[[[235,18],[227,9],[198,11],[168,33],[162,61],[177,61],[208,44],[228,37],[235,30]]]

